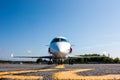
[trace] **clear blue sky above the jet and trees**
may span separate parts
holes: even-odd
[[[73,54],[120,57],[119,0],[1,0],[0,59],[10,54],[49,55],[56,36],[74,44]]]

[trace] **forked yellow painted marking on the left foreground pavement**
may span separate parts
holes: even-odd
[[[57,70],[57,69],[0,72],[0,79],[9,78],[9,79],[15,79],[15,80],[38,80],[38,79],[43,80],[43,76],[18,76],[17,74],[29,73],[29,72],[51,71],[51,70]]]

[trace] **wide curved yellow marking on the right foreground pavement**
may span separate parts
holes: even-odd
[[[76,69],[70,71],[57,72],[53,74],[53,78],[57,80],[120,80],[120,74],[109,74],[103,76],[81,76],[77,72],[89,71],[93,69]]]

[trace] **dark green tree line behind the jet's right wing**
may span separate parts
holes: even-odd
[[[99,54],[85,54],[85,55],[79,55],[79,56],[87,56],[88,58],[78,58],[78,59],[73,59],[74,63],[79,64],[79,63],[120,63],[120,58],[111,58],[106,55],[99,55]],[[92,56],[98,56],[98,57],[92,57]]]

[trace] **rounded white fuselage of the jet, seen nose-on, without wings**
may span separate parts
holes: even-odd
[[[71,44],[65,37],[55,37],[50,42],[49,53],[55,58],[66,58],[71,52]]]

